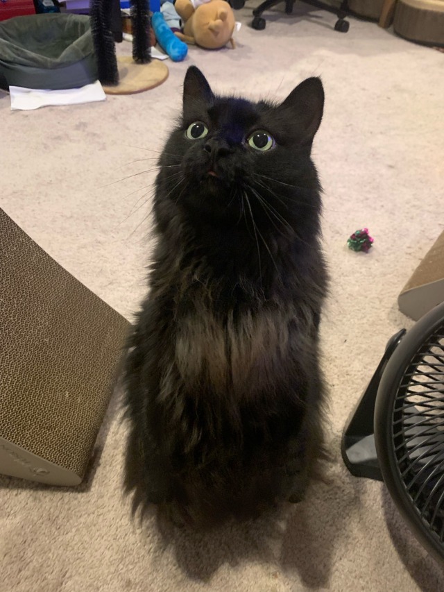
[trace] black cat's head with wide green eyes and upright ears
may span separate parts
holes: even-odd
[[[319,213],[310,159],[323,116],[319,78],[308,78],[282,103],[217,96],[198,68],[187,70],[183,112],[160,164],[161,194],[198,217],[264,227]],[[309,215],[310,214],[310,215]]]

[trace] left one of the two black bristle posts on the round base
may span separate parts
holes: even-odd
[[[107,86],[119,84],[116,46],[111,31],[112,2],[113,0],[90,0],[89,5],[89,22],[96,51],[99,81]]]

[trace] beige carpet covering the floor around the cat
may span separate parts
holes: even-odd
[[[444,56],[355,19],[347,35],[336,33],[333,15],[305,8],[288,17],[280,6],[260,32],[247,26],[246,8],[237,16],[236,50],[190,48],[186,62],[169,62],[167,82],[144,94],[34,112],[10,112],[0,94],[0,206],[130,318],[150,253],[149,159],[180,107],[187,65],[223,92],[254,97],[284,98],[321,75],[325,118],[314,158],[332,273],[322,341],[334,462],[325,482],[280,516],[208,536],[161,532],[154,517],[140,527],[122,496],[126,426],[116,394],[83,487],[0,478],[2,592],[444,589],[384,486],[351,477],[339,450],[388,337],[412,324],[398,312],[398,293],[444,228]],[[345,246],[362,226],[375,237],[368,255]]]

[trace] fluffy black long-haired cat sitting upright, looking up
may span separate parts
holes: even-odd
[[[327,273],[310,152],[323,86],[280,105],[185,76],[126,365],[126,488],[195,525],[302,498],[321,448]]]

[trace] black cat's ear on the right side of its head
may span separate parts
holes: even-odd
[[[321,78],[307,78],[277,108],[278,114],[297,125],[302,142],[311,144],[321,125],[324,88]]]

